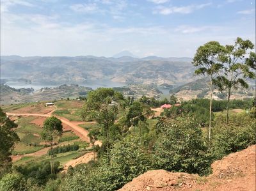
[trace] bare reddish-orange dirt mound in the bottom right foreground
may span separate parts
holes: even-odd
[[[120,191],[141,190],[256,190],[255,145],[232,153],[212,165],[212,174],[200,177],[197,174],[148,171],[124,185]]]

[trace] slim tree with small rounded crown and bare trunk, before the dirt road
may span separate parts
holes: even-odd
[[[49,142],[51,144],[51,174],[55,174],[54,170],[54,156],[52,152],[52,144],[54,137],[61,136],[63,132],[63,126],[61,120],[51,116],[44,121],[43,131],[42,131],[42,139]]]

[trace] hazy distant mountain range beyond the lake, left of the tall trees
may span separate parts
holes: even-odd
[[[20,57],[1,56],[1,79],[79,84],[88,80],[112,80],[125,84],[178,86],[191,82],[195,68],[189,57]],[[129,53],[129,52],[128,52]]]

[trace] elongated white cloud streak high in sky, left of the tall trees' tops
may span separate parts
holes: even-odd
[[[211,5],[211,3],[189,5],[189,6],[172,6],[172,7],[157,6],[156,10],[154,10],[153,13],[159,13],[161,15],[170,15],[172,13],[189,14],[189,13],[192,13],[193,11],[200,10],[205,6],[209,6],[209,5]]]

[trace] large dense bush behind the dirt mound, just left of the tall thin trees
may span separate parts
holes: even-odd
[[[207,174],[211,155],[207,153],[201,128],[192,118],[177,118],[158,126],[154,146],[154,167],[174,172]]]

